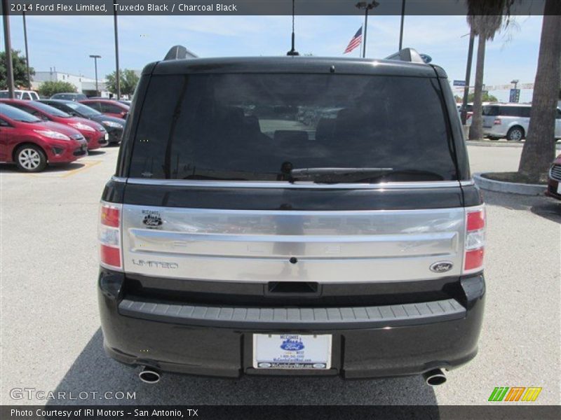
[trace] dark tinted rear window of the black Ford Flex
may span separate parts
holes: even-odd
[[[433,78],[152,76],[129,176],[444,181],[457,179],[449,144]]]

